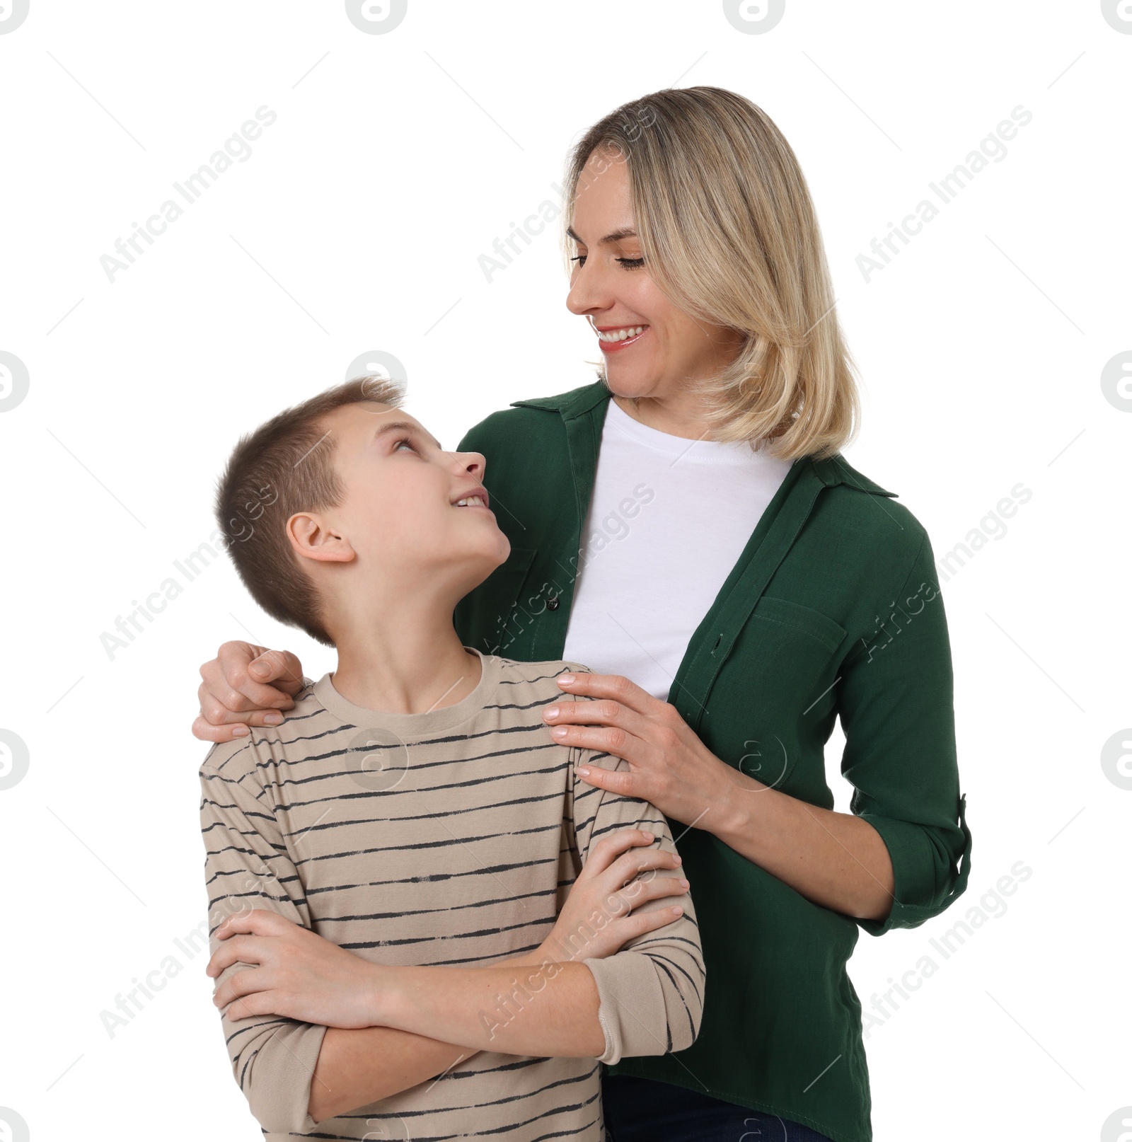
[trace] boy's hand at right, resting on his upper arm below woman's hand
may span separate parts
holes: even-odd
[[[540,958],[556,963],[604,959],[635,936],[672,924],[683,914],[679,904],[631,912],[647,900],[682,896],[688,891],[681,877],[657,876],[657,869],[677,868],[681,859],[645,847],[653,839],[641,829],[619,829],[594,845],[538,950]]]

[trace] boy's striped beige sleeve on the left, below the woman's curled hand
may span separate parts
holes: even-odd
[[[208,887],[209,950],[224,942],[216,930],[225,917],[260,908],[311,927],[298,872],[271,804],[254,791],[255,778],[240,764],[241,749],[216,751],[200,769],[201,834],[204,841],[204,877]],[[252,766],[254,769],[254,766]],[[250,783],[250,785],[249,785]],[[255,964],[238,962],[217,978]],[[311,1079],[327,1029],[278,1015],[231,1019],[220,1015],[232,1075],[248,1105],[268,1137],[313,1131],[316,1123],[307,1105]]]

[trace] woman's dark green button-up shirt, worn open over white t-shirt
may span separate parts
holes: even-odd
[[[487,458],[512,544],[457,606],[467,645],[562,658],[609,396],[596,383],[516,401],[460,442]],[[852,811],[892,859],[892,911],[880,922],[822,908],[710,833],[671,822],[707,965],[703,1023],[679,1054],[612,1068],[835,1142],[872,1139],[861,1007],[845,967],[858,928],[922,924],[970,871],[944,603],[928,534],[892,496],[841,456],[796,460],[692,633],[668,697],[716,757],[825,809],[834,797],[824,747],[840,717]]]

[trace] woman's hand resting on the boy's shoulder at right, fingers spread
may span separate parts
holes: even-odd
[[[675,706],[619,674],[561,674],[557,683],[594,701],[568,700],[545,709],[554,740],[612,754],[629,765],[627,772],[581,766],[578,774],[588,785],[651,802],[669,820],[689,826],[728,805],[734,771],[699,740]]]

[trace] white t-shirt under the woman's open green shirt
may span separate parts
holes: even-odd
[[[789,467],[742,441],[658,432],[611,399],[562,658],[667,701],[693,632]]]

